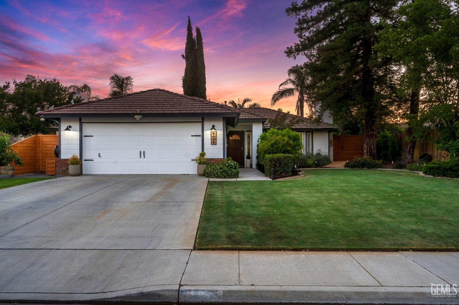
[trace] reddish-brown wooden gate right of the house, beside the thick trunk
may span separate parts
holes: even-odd
[[[333,161],[349,162],[364,155],[364,136],[333,136]]]

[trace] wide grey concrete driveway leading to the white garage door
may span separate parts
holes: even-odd
[[[85,175],[0,190],[0,300],[145,287],[176,298],[206,187],[196,175]]]

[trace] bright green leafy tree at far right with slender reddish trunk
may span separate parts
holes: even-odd
[[[390,56],[399,71],[397,94],[402,102],[399,109],[408,121],[403,163],[413,162],[414,127],[419,125],[420,106],[427,106],[429,99],[434,104],[446,102],[456,92],[451,81],[454,74],[457,76],[453,53],[458,46],[459,33],[457,19],[453,22],[454,14],[448,2],[401,1],[393,16],[385,20],[379,34],[380,43],[376,49]],[[435,98],[438,93],[440,97]]]

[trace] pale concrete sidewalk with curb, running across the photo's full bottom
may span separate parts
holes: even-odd
[[[22,274],[0,283],[0,302],[459,304],[431,294],[431,284],[459,284],[459,252],[132,250],[124,261],[121,251],[52,252],[37,263],[43,253],[27,262],[3,250],[3,276]]]

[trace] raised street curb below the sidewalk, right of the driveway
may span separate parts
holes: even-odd
[[[180,303],[459,304],[430,287],[182,286]]]

